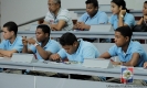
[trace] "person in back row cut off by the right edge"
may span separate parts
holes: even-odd
[[[138,25],[140,25],[143,23],[147,24],[147,1],[144,2],[143,18],[137,22]]]

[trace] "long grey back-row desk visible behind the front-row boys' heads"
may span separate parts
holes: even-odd
[[[51,32],[51,37],[61,37],[62,34],[71,32],[76,35],[76,37],[101,37],[101,38],[114,38],[114,32],[90,32],[90,31],[57,31]],[[20,36],[35,36],[34,31],[18,31]],[[147,33],[145,32],[134,32],[132,38],[146,38]]]

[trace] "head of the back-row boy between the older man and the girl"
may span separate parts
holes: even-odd
[[[86,3],[86,12],[88,15],[93,16],[98,11],[98,1],[97,0],[87,0]]]

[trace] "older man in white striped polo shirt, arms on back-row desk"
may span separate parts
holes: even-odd
[[[61,0],[48,0],[49,12],[44,24],[49,24],[52,31],[71,31],[73,29],[72,18],[69,10],[61,8]]]

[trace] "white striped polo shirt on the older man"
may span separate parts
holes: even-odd
[[[51,24],[57,24],[60,20],[64,20],[66,22],[65,26],[62,31],[71,31],[73,29],[73,22],[69,10],[60,9],[57,16],[55,16],[52,12],[48,12],[44,21]]]

